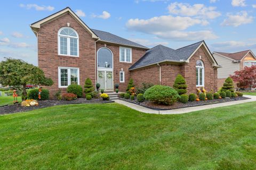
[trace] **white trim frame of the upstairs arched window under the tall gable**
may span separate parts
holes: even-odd
[[[77,37],[60,35],[60,32],[61,32],[63,29],[65,29],[65,28],[68,28],[68,29],[73,30],[73,31],[76,33],[76,36],[77,36]],[[65,37],[65,38],[67,38],[67,53],[68,53],[68,54],[60,54],[60,37]],[[76,56],[76,55],[70,55],[70,38],[76,38],[76,39],[77,39],[77,56]],[[69,56],[69,57],[79,57],[79,36],[78,36],[78,33],[76,32],[76,30],[74,30],[73,28],[70,28],[70,27],[62,27],[61,29],[59,29],[59,31],[58,31],[58,55],[61,55],[61,56]]]

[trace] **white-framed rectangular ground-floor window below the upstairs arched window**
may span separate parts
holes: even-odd
[[[59,67],[59,88],[66,88],[70,84],[79,84],[79,69],[73,67]]]

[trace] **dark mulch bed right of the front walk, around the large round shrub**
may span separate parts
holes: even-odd
[[[211,104],[217,104],[217,103],[225,103],[228,101],[237,101],[237,100],[245,100],[245,99],[250,99],[247,97],[236,97],[236,98],[225,98],[225,99],[213,99],[213,100],[206,100],[206,101],[188,101],[188,103],[183,104],[181,102],[176,102],[173,105],[167,106],[167,105],[159,105],[152,103],[150,101],[143,101],[142,103],[138,103],[135,100],[131,99],[125,99],[125,98],[119,98],[124,101],[128,101],[130,103],[134,103],[140,106],[144,106],[147,108],[151,108],[157,111],[164,111],[164,110],[169,110],[169,109],[177,109],[177,108],[185,108],[185,107],[193,107],[193,106],[203,106],[203,105],[211,105]]]

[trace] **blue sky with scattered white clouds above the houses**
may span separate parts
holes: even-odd
[[[0,61],[13,57],[37,65],[29,25],[67,6],[90,28],[148,47],[175,49],[204,39],[212,52],[256,52],[256,0],[3,1]]]

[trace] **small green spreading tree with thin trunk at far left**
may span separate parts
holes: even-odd
[[[0,62],[0,82],[9,86],[22,86],[22,97],[27,98],[26,85],[38,84],[52,86],[53,81],[46,78],[43,70],[23,60],[6,58]]]

